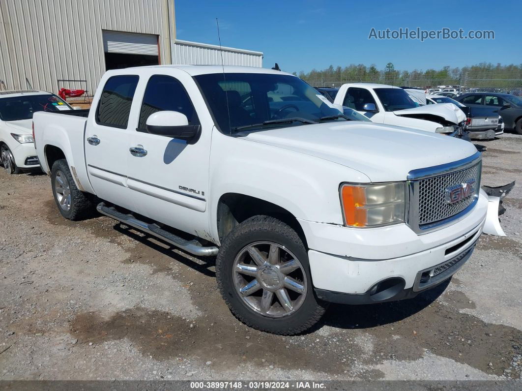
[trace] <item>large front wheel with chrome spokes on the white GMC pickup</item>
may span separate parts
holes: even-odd
[[[326,309],[315,297],[302,240],[273,217],[252,217],[227,235],[216,259],[216,276],[232,314],[258,330],[299,334]]]

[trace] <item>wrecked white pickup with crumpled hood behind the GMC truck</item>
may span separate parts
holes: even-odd
[[[369,83],[343,84],[334,103],[356,110],[372,122],[466,138],[466,115],[455,105],[444,103],[421,106],[400,87]]]

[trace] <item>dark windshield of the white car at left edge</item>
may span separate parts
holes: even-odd
[[[37,111],[72,110],[71,107],[53,94],[22,95],[0,99],[0,119],[2,121],[30,120]]]

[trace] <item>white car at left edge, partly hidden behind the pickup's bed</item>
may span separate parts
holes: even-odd
[[[33,113],[62,110],[73,108],[50,92],[0,91],[0,160],[8,174],[40,166],[33,143]]]

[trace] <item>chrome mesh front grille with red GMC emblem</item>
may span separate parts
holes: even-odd
[[[477,203],[481,169],[477,152],[453,163],[410,171],[406,220],[410,228],[428,233],[464,217]]]

